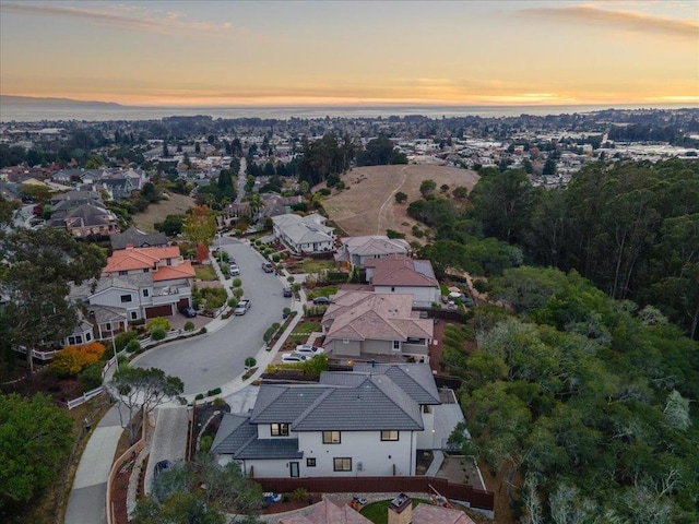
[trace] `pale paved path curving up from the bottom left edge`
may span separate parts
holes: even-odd
[[[107,478],[122,431],[115,406],[99,420],[80,458],[66,509],[66,524],[107,522]]]

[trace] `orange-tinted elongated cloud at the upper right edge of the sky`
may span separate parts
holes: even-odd
[[[641,12],[600,9],[593,5],[570,5],[523,9],[520,13],[574,24],[594,24],[639,33],[662,33],[694,41],[699,38],[699,23],[695,21],[653,16]]]

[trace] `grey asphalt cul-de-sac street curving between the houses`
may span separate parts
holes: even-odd
[[[245,298],[252,301],[250,310],[214,333],[150,349],[133,360],[139,367],[179,377],[186,395],[205,393],[242,374],[245,359],[257,355],[264,345],[262,335],[272,323],[282,322],[282,311],[293,300],[283,297],[284,281],[264,273],[260,267],[263,259],[247,243],[224,237],[222,249],[240,267]]]

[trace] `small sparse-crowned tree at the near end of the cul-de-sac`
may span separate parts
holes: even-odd
[[[157,368],[121,367],[115,373],[109,384],[112,396],[127,408],[128,418],[125,420],[119,409],[121,427],[129,428],[129,441],[133,444],[138,440],[138,425],[134,415],[143,409],[143,418],[168,398],[176,397],[185,391],[185,384],[177,377],[166,376]]]

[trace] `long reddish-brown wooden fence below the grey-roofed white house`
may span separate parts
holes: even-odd
[[[305,477],[253,478],[262,491],[291,493],[305,488],[311,493],[433,493],[435,488],[451,500],[467,502],[471,508],[493,511],[495,493],[438,477]]]

